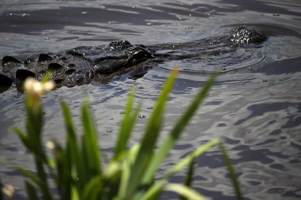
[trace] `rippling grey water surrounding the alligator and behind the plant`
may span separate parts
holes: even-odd
[[[172,61],[134,81],[121,77],[49,92],[45,106],[44,142],[65,142],[60,100],[65,100],[76,125],[85,97],[92,102],[99,143],[109,156],[123,116],[127,92],[136,88],[143,107],[130,144],[139,142],[154,100],[170,69],[181,72],[170,94],[163,132],[166,137],[189,101],[208,79],[221,75],[181,140],[159,170],[205,141],[222,137],[246,199],[300,199],[301,167],[301,4],[299,1],[0,1],[0,54],[20,60],[42,52],[128,40],[145,45],[187,43],[224,34],[229,28],[256,26],[268,35],[262,47],[195,61]],[[170,51],[170,50],[162,50]],[[16,85],[0,93],[0,154],[34,171],[32,158],[8,128],[24,128],[24,96]],[[141,117],[142,116],[142,117]],[[193,185],[208,198],[235,199],[229,175],[217,148],[197,159]],[[173,182],[183,180],[184,172]],[[1,165],[4,183],[14,185],[15,199],[25,197],[23,177]],[[163,198],[175,198],[166,193]]]

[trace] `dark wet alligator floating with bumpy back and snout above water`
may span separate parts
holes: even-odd
[[[50,72],[51,80],[58,87],[89,84],[91,81],[109,83],[122,75],[137,79],[158,63],[220,55],[236,51],[237,47],[260,44],[267,40],[267,36],[254,27],[237,27],[230,33],[219,38],[150,47],[117,40],[107,46],[81,46],[56,54],[43,53],[35,59],[26,58],[24,63],[12,56],[4,56],[0,68],[0,88],[8,89],[14,82],[22,83],[27,77],[41,80],[46,72]],[[173,50],[157,52],[162,49]]]

